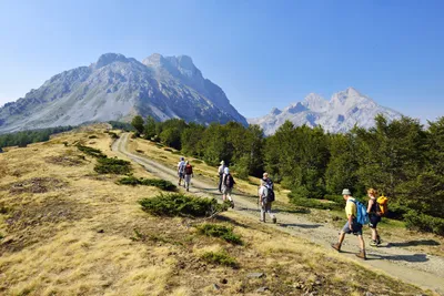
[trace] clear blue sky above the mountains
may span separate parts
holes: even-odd
[[[188,54],[246,118],[354,86],[444,115],[444,1],[0,0],[0,105],[105,52]]]

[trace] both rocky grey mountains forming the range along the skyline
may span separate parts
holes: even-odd
[[[24,98],[0,108],[0,133],[111,120],[129,122],[137,114],[158,121],[176,118],[201,124],[259,124],[266,135],[286,120],[337,133],[355,124],[373,126],[379,113],[389,120],[401,116],[349,88],[330,101],[311,93],[282,111],[274,108],[263,118],[246,121],[223,90],[203,78],[190,57],[154,53],[139,62],[105,53],[95,63],[57,74]]]

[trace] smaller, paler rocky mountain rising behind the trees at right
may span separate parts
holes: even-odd
[[[357,90],[349,88],[333,94],[330,101],[310,93],[302,102],[291,104],[282,111],[273,108],[270,114],[248,121],[250,124],[259,124],[265,135],[273,134],[287,120],[295,126],[322,125],[329,132],[342,133],[350,131],[355,124],[366,129],[374,126],[377,114],[390,121],[402,116],[401,113],[381,106]]]

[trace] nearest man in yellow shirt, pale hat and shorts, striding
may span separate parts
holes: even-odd
[[[356,222],[356,216],[357,216],[357,206],[356,206],[356,200],[353,198],[352,193],[350,190],[343,190],[342,191],[342,196],[346,201],[345,203],[345,214],[347,216],[347,222],[345,223],[344,227],[341,231],[339,241],[336,244],[332,244],[332,247],[336,249],[337,252],[341,252],[341,245],[342,242],[345,238],[345,234],[351,234],[353,233],[354,235],[357,235],[357,239],[360,242],[360,253],[356,254],[357,257],[362,259],[366,259],[365,256],[365,244],[364,244],[364,238],[362,237],[362,224]]]

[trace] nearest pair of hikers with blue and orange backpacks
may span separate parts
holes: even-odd
[[[341,252],[342,243],[344,242],[345,234],[354,234],[357,236],[360,253],[357,257],[366,259],[365,243],[362,236],[362,227],[369,224],[372,231],[371,246],[381,245],[381,236],[377,233],[377,224],[381,222],[381,217],[387,213],[387,197],[381,195],[379,198],[377,192],[374,188],[367,190],[369,204],[363,205],[356,201],[350,190],[345,188],[342,191],[342,196],[345,200],[345,215],[347,221],[342,228],[337,243],[332,244],[332,247],[337,252]]]

